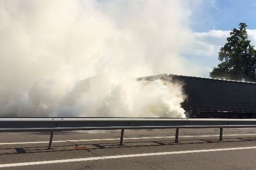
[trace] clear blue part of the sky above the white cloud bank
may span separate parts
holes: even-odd
[[[192,12],[194,31],[230,30],[239,23],[247,23],[248,29],[256,28],[255,0],[208,0]]]

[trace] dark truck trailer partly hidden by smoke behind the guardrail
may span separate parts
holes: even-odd
[[[186,100],[181,107],[192,118],[256,118],[256,83],[161,74],[140,80],[178,82]]]

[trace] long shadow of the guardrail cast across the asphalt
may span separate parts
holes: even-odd
[[[67,142],[69,144],[64,145],[53,145],[52,150],[47,149],[47,145],[41,145],[36,147],[9,147],[0,148],[0,155],[12,155],[12,154],[27,154],[27,153],[45,153],[45,152],[64,152],[72,150],[98,150],[98,149],[111,149],[111,148],[129,148],[129,147],[157,147],[163,145],[189,145],[189,144],[212,144],[212,143],[230,143],[230,142],[253,142],[256,141],[255,138],[232,138],[224,139],[224,141],[219,141],[218,139],[182,139],[179,143],[170,140],[156,140],[156,141],[124,141],[123,145],[119,145],[119,142],[108,142],[108,143],[73,143]],[[84,147],[84,146],[90,147]],[[81,147],[77,147],[81,146]],[[77,149],[79,148],[79,149]]]

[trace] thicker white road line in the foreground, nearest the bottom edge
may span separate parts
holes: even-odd
[[[216,152],[216,151],[244,150],[244,149],[256,149],[256,146],[253,146],[253,147],[231,147],[231,148],[221,148],[221,149],[184,150],[184,151],[158,152],[158,153],[139,153],[139,154],[130,154],[130,155],[115,155],[115,156],[102,156],[102,157],[97,156],[97,157],[89,157],[89,158],[61,159],[61,160],[53,160],[53,161],[20,162],[20,163],[12,163],[12,164],[0,164],[0,167],[17,167],[17,166],[27,166],[27,165],[56,164],[56,163],[64,163],[64,162],[93,161],[93,160],[99,160],[99,159],[103,160],[103,159],[173,155],[173,154],[181,154],[181,153]]]

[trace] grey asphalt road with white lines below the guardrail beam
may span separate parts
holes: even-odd
[[[0,133],[0,170],[254,170],[256,129]]]

